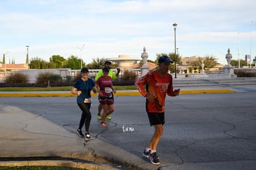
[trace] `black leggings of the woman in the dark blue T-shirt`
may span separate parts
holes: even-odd
[[[90,122],[92,119],[92,114],[90,113],[91,103],[78,103],[78,105],[79,108],[82,110],[79,129],[81,130],[83,124],[85,124],[85,131],[89,132]]]

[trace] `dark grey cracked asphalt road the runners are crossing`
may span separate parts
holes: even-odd
[[[3,105],[36,114],[72,133],[79,125],[81,114],[75,101],[75,97],[0,98]],[[116,96],[114,106],[108,128],[102,129],[96,119],[98,99],[93,97],[90,134],[143,159],[142,163],[130,163],[136,168],[256,169],[254,91],[167,97],[166,124],[157,148],[160,166],[142,158],[142,150],[153,134],[145,112],[145,98]],[[129,159],[127,155],[119,156]]]

